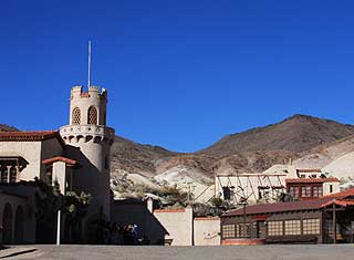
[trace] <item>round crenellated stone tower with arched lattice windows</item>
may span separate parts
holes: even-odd
[[[110,165],[114,129],[106,126],[106,90],[83,86],[71,90],[70,124],[60,128],[66,144],[67,157],[76,159],[81,168],[73,174],[73,190],[92,195],[88,215],[110,219]],[[90,217],[88,216],[88,217]]]

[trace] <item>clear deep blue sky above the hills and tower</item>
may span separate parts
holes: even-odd
[[[54,129],[70,89],[108,90],[108,125],[192,152],[302,113],[354,124],[354,1],[0,1],[0,123]]]

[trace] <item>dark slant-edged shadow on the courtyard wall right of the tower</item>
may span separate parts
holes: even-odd
[[[149,245],[165,245],[165,237],[169,235],[147,209],[146,202],[138,199],[114,200],[111,220],[121,227],[137,225],[139,228],[138,236],[147,238]]]

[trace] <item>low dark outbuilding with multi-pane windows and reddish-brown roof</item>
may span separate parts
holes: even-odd
[[[221,216],[221,245],[353,243],[354,189],[320,199],[250,205]]]

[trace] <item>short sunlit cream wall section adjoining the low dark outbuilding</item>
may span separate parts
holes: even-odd
[[[220,218],[195,218],[195,246],[220,246]]]

